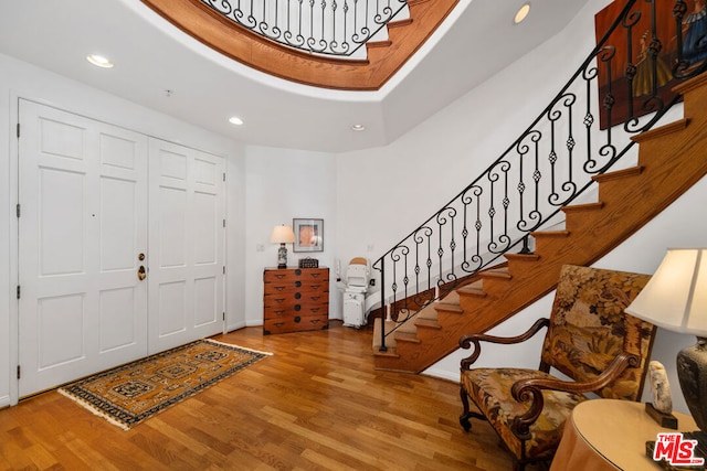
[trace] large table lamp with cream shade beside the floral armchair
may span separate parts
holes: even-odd
[[[661,266],[626,312],[673,332],[697,335],[677,354],[677,378],[707,443],[707,248],[668,249]]]

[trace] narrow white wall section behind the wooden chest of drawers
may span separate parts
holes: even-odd
[[[292,220],[324,220],[324,251],[294,253],[287,246],[287,265],[312,257],[330,268],[330,319],[341,319],[334,286],[337,247],[336,160],[324,152],[265,147],[246,149],[245,210],[245,324],[263,324],[263,269],[277,266],[278,244],[271,244],[273,227]]]

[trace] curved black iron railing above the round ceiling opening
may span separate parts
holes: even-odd
[[[351,56],[407,0],[201,0],[243,28],[310,53]]]

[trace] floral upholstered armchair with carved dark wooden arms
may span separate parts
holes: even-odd
[[[461,363],[462,427],[468,431],[472,417],[488,420],[515,456],[514,468],[523,470],[526,463],[552,459],[572,408],[589,399],[585,393],[639,400],[656,328],[623,310],[650,278],[566,265],[549,319],[516,338],[463,336],[460,346],[474,350]],[[537,371],[472,368],[483,341],[519,343],[546,327]],[[559,379],[550,368],[571,381]]]

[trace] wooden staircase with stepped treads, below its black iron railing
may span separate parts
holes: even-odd
[[[564,231],[536,232],[532,255],[507,255],[506,268],[482,271],[409,321],[376,367],[420,373],[555,289],[564,264],[591,265],[657,216],[707,174],[707,74],[677,86],[684,119],[635,136],[636,167],[594,176],[598,202],[563,207]],[[380,341],[380,321],[373,342]],[[387,327],[387,330],[389,327]],[[390,338],[389,336],[389,338]],[[393,346],[390,346],[393,345]]]

